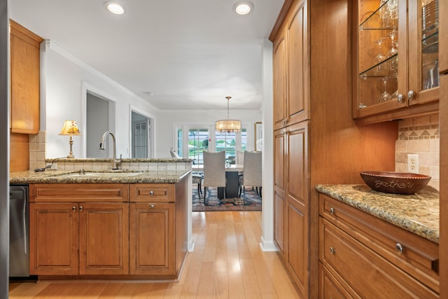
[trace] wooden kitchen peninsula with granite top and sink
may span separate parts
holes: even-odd
[[[10,183],[29,184],[30,274],[178,279],[188,250],[190,169],[168,169],[176,161],[163,161],[127,159],[123,165],[146,170],[112,171],[83,168],[102,161],[76,159],[82,170],[11,173]]]

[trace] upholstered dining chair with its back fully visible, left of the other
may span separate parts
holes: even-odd
[[[203,151],[204,157],[204,204],[207,188],[225,187],[225,151]],[[224,190],[225,198],[225,190]]]

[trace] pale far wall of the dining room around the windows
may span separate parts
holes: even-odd
[[[204,110],[188,110],[188,111],[160,111],[158,122],[155,124],[156,145],[155,158],[170,157],[169,149],[175,148],[176,140],[174,130],[176,125],[198,126],[211,125],[214,126],[216,120],[227,118],[227,111],[204,111]],[[260,110],[229,110],[229,116],[232,119],[241,120],[241,125],[247,128],[247,150],[253,151],[253,130],[255,122],[261,121]]]

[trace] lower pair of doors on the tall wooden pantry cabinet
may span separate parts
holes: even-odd
[[[309,121],[274,132],[274,242],[302,292],[307,288]]]

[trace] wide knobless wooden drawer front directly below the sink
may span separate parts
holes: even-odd
[[[128,202],[122,183],[38,183],[29,185],[30,202]]]

